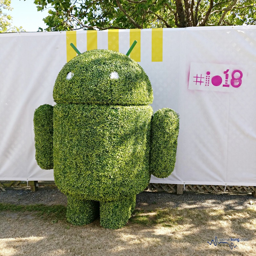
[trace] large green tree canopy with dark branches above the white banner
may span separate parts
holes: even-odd
[[[38,11],[49,8],[44,19],[47,31],[256,24],[254,0],[34,0],[34,3]]]

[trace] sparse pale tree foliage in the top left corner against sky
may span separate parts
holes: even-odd
[[[12,26],[12,16],[5,12],[11,10],[11,0],[0,0],[0,33],[23,31],[22,27]]]

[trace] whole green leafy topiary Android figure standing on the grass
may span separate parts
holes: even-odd
[[[179,116],[153,115],[148,76],[130,57],[91,50],[70,60],[54,88],[56,105],[34,114],[36,161],[54,169],[68,198],[67,220],[123,227],[151,174],[169,176],[176,161]]]

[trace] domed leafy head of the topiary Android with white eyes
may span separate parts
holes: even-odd
[[[153,102],[148,76],[130,57],[91,50],[70,60],[53,89],[56,103],[147,105]]]

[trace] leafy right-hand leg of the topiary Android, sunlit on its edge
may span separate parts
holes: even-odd
[[[134,211],[136,195],[116,201],[100,202],[100,225],[104,228],[122,228]]]

